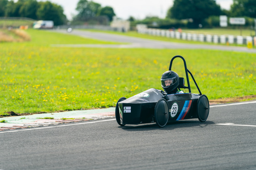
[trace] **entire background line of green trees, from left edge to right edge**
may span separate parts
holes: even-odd
[[[111,6],[102,7],[92,0],[79,0],[76,6],[77,15],[73,16],[71,24],[109,24],[115,12]],[[217,27],[219,15],[228,17],[245,17],[246,25],[254,25],[256,18],[256,0],[233,0],[230,10],[221,9],[215,0],[174,0],[167,11],[165,19],[148,16],[136,20],[130,16],[128,20],[133,25],[147,24],[149,27]],[[27,17],[34,20],[53,20],[54,25],[64,25],[68,22],[63,7],[50,1],[37,0],[0,0],[0,17]]]

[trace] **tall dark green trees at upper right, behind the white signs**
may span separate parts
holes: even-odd
[[[219,15],[246,17],[247,24],[251,24],[252,18],[256,18],[256,0],[233,0],[230,10],[221,9],[215,0],[174,0],[167,13],[168,18],[192,19],[192,27],[216,25],[216,21],[219,25]]]

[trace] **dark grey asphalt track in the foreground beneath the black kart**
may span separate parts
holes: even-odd
[[[5,130],[0,169],[255,170],[255,110],[256,101],[211,106],[204,123],[181,120],[164,128],[155,123],[121,127],[104,119]]]

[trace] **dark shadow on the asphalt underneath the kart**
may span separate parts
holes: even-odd
[[[119,126],[118,128],[121,128],[127,131],[174,130],[177,128],[187,128],[187,127],[204,128],[208,125],[213,125],[213,124],[215,124],[213,121],[205,121],[202,123],[198,120],[180,120],[180,121],[168,122],[167,125],[165,125],[165,127],[163,128],[158,127],[156,123],[124,125],[124,126]]]

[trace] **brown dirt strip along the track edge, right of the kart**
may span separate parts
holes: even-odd
[[[219,103],[234,103],[234,102],[240,102],[240,101],[246,101],[246,100],[256,100],[256,95],[247,95],[243,97],[230,97],[230,98],[224,98],[224,99],[213,99],[209,100],[210,105],[213,104],[219,104]]]

